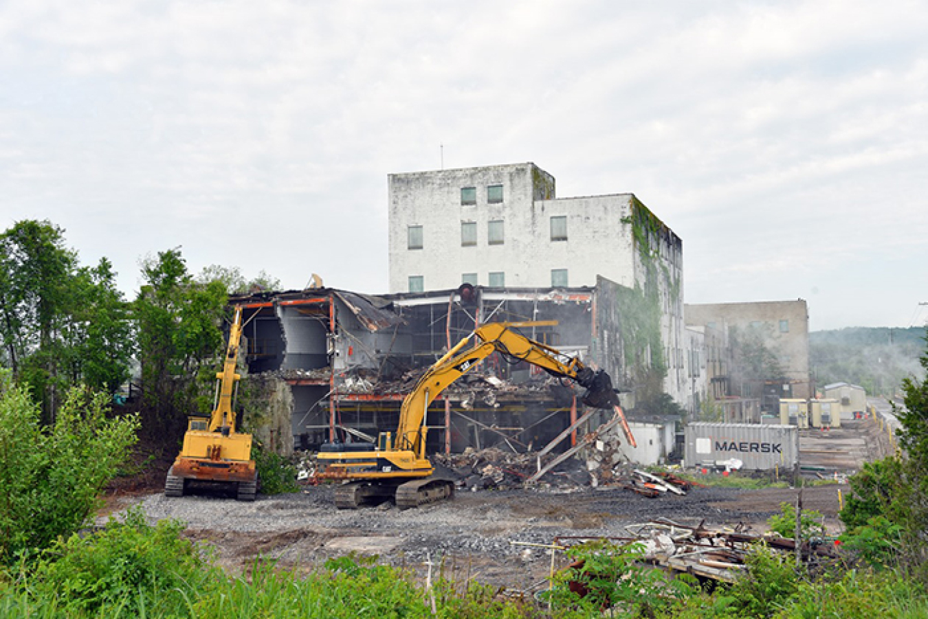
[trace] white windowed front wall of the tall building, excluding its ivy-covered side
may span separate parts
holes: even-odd
[[[390,291],[634,287],[630,193],[557,199],[534,163],[390,174]],[[679,270],[679,247],[668,264]]]

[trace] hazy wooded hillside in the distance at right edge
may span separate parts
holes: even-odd
[[[891,395],[902,379],[924,378],[919,357],[925,353],[925,328],[851,327],[809,333],[809,364],[821,389],[851,382],[868,394]]]

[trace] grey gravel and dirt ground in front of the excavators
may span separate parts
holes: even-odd
[[[806,488],[808,509],[835,524],[837,486]],[[559,536],[625,536],[625,525],[668,518],[706,527],[749,525],[764,530],[767,518],[793,502],[796,492],[771,488],[694,488],[687,496],[646,498],[618,488],[574,492],[539,490],[460,492],[450,501],[419,509],[335,509],[330,486],[302,493],[258,496],[242,503],[221,496],[162,494],[123,496],[112,507],[138,503],[149,520],[187,523],[187,535],[216,550],[215,560],[232,573],[247,572],[258,557],[295,569],[312,569],[329,557],[378,555],[380,561],[422,573],[428,559],[445,575],[509,589],[538,586],[548,574],[544,548]],[[101,521],[105,520],[101,518]],[[833,528],[833,527],[832,527]],[[558,564],[565,564],[562,553]]]

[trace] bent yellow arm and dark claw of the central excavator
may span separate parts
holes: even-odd
[[[531,325],[532,323],[487,323],[458,342],[457,346],[422,375],[412,392],[406,395],[400,409],[400,422],[393,448],[408,449],[415,452],[419,458],[424,458],[425,432],[422,425],[429,405],[448,385],[496,352],[509,359],[525,361],[538,368],[544,368],[553,376],[574,380],[586,388],[583,402],[587,406],[618,406],[619,399],[612,389],[612,380],[604,371],[588,368],[577,357],[567,357],[556,349],[530,340],[511,329]],[[461,353],[461,349],[472,337],[475,337],[477,342]]]

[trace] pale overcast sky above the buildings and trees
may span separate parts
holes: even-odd
[[[387,174],[634,193],[687,303],[928,318],[928,3],[0,2],[0,229],[387,290]],[[925,310],[925,311],[922,311]]]

